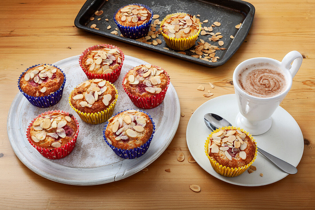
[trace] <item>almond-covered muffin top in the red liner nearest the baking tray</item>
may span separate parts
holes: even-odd
[[[82,66],[94,74],[112,73],[122,62],[122,55],[117,48],[98,46],[84,55]]]

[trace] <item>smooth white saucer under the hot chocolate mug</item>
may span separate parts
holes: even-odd
[[[247,171],[237,177],[224,177],[215,172],[204,152],[204,144],[211,133],[203,121],[207,113],[218,114],[235,125],[238,114],[236,95],[215,97],[203,103],[191,116],[186,130],[187,145],[192,157],[209,174],[227,183],[241,186],[262,186],[283,179],[288,173],[283,172],[265,156],[258,152],[253,166],[257,171]],[[264,134],[253,136],[257,146],[266,152],[297,166],[302,158],[304,143],[299,125],[283,108],[278,107],[272,115],[272,126]],[[263,177],[260,176],[263,173]],[[294,176],[294,175],[290,175]]]

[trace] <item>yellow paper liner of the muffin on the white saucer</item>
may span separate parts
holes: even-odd
[[[212,136],[213,133],[215,132],[218,132],[220,130],[224,130],[224,129],[238,129],[240,131],[243,131],[244,133],[246,133],[246,135],[249,136],[249,138],[255,142],[256,144],[256,150],[255,150],[255,155],[254,155],[254,158],[252,161],[250,161],[249,164],[247,164],[246,166],[242,166],[242,167],[238,167],[238,168],[229,168],[229,167],[226,167],[226,166],[222,166],[220,165],[217,161],[215,161],[214,158],[210,157],[209,154],[208,154],[208,144],[210,142],[210,137]],[[234,126],[228,126],[228,127],[222,127],[222,128],[219,128],[219,129],[216,129],[215,131],[211,132],[211,134],[209,134],[209,137],[207,138],[206,140],[206,143],[204,145],[204,151],[207,155],[207,157],[209,158],[210,160],[210,163],[211,163],[211,166],[213,167],[213,169],[215,170],[215,172],[217,172],[218,174],[222,175],[222,176],[225,176],[225,177],[236,177],[240,174],[242,174],[243,172],[245,172],[250,165],[253,164],[253,162],[256,160],[256,156],[257,156],[257,143],[254,139],[254,137],[252,137],[252,135],[250,135],[248,132],[244,131],[243,129],[239,128],[239,127],[234,127]]]

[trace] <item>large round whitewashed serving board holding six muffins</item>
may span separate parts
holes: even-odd
[[[56,63],[66,74],[63,96],[56,105],[38,108],[29,103],[19,92],[10,107],[8,115],[8,136],[16,156],[38,175],[64,184],[95,185],[129,177],[156,160],[168,147],[177,130],[180,119],[180,104],[174,86],[170,83],[163,103],[156,108],[145,109],[156,125],[156,131],[148,151],[136,159],[118,157],[103,139],[105,123],[91,125],[83,122],[70,107],[70,92],[81,82],[88,80],[79,66],[79,55]],[[147,64],[140,59],[125,55],[121,74],[114,85],[118,100],[114,113],[124,109],[138,109],[122,88],[124,75],[135,66]],[[162,67],[163,68],[163,67]],[[44,158],[26,138],[26,128],[33,118],[47,110],[64,110],[74,115],[79,122],[77,143],[72,153],[59,160]]]

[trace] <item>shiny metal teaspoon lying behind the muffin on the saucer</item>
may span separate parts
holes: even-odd
[[[203,120],[204,120],[205,124],[207,125],[207,127],[211,131],[214,131],[218,128],[225,127],[225,126],[232,126],[231,123],[229,123],[226,119],[220,117],[217,114],[212,114],[212,113],[205,114]],[[264,151],[258,147],[257,147],[257,151],[260,152],[262,155],[264,155],[269,160],[271,160],[282,171],[289,173],[289,174],[295,174],[297,172],[296,167],[285,162],[284,160],[281,160],[281,159],[267,153],[266,151]]]

